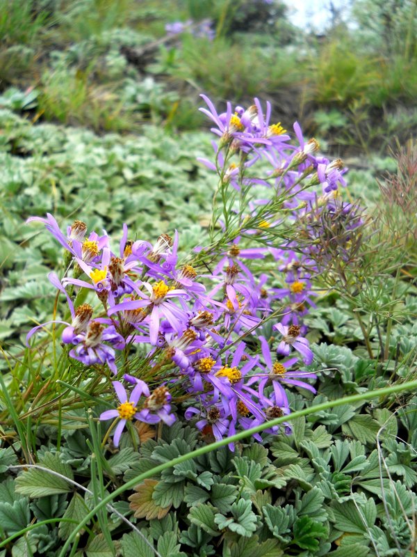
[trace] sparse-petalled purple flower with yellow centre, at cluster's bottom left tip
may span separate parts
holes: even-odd
[[[116,391],[117,397],[119,398],[120,405],[115,410],[106,410],[102,412],[99,419],[101,421],[105,421],[111,420],[112,418],[120,418],[120,422],[116,426],[113,437],[113,443],[117,447],[126,422],[132,421],[133,418],[140,419],[138,417],[138,402],[142,394],[145,396],[149,395],[149,389],[145,382],[138,379],[128,401],[126,389],[124,389],[124,386],[120,383],[120,381],[113,381],[113,387]]]

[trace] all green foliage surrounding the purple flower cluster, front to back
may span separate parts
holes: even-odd
[[[391,10],[390,19],[383,3],[357,1],[356,17],[366,19],[367,29],[354,37],[334,34],[320,45],[300,37],[288,47],[291,29],[279,2],[3,4],[0,339],[6,357],[0,366],[7,391],[0,393],[0,544],[17,534],[6,542],[13,557],[56,557],[97,497],[206,442],[181,421],[147,441],[132,427],[120,450],[104,444],[99,480],[85,407],[106,387],[90,390],[83,367],[68,368],[56,342],[60,325],[40,331],[32,341],[35,355],[22,350],[28,329],[47,321],[54,306],[56,293],[43,279],[63,265],[54,240],[39,225],[23,224],[30,215],[52,212],[64,225],[83,219],[108,233],[126,222],[135,239],[177,228],[183,255],[204,242],[213,185],[195,157],[211,153],[209,138],[177,134],[199,125],[195,91],[204,91],[236,102],[268,96],[286,118],[284,127],[302,109],[334,152],[377,144],[379,157],[350,157],[347,166],[352,197],[360,194],[372,207],[386,204],[385,236],[372,228],[359,265],[341,267],[347,282],[340,283],[340,269],[330,274],[332,292],[318,292],[318,308],[306,318],[316,343],[309,370],[318,374],[318,394],[293,395],[291,407],[329,402],[329,409],[292,421],[291,434],[264,434],[262,443],[246,441],[235,453],[223,448],[153,472],[85,525],[73,554],[407,555],[416,508],[416,399],[331,405],[415,376],[416,211],[393,202],[395,191],[397,201],[407,197],[400,188],[407,180],[414,194],[413,144],[398,171],[385,156],[393,134],[408,136],[417,126],[411,2]],[[360,10],[363,5],[377,11]],[[213,42],[191,33],[164,36],[166,22],[208,13],[218,30]],[[265,13],[272,15],[265,19]],[[398,173],[381,194],[375,175],[386,170]],[[83,397],[56,382],[69,377]],[[70,409],[63,404],[68,400]],[[16,473],[13,466],[22,463],[45,470]]]

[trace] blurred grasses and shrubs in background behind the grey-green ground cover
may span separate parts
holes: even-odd
[[[416,8],[352,0],[317,35],[281,0],[3,0],[0,106],[99,133],[177,132],[203,125],[201,92],[256,95],[335,155],[384,155],[417,129]]]

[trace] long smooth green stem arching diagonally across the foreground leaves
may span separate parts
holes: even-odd
[[[124,491],[126,491],[126,489],[131,489],[135,485],[138,485],[138,483],[143,482],[143,480],[146,480],[151,476],[155,476],[156,474],[162,472],[163,470],[166,470],[167,468],[172,468],[172,466],[175,466],[176,464],[181,464],[181,462],[185,462],[186,460],[190,460],[191,458],[199,457],[201,455],[205,455],[206,453],[210,453],[212,450],[217,450],[218,448],[222,448],[228,445],[229,443],[236,443],[236,441],[240,441],[241,439],[250,437],[250,435],[259,433],[269,427],[280,425],[285,421],[295,420],[296,418],[300,418],[301,416],[308,416],[309,414],[315,414],[316,412],[321,412],[329,408],[334,408],[336,406],[349,405],[349,404],[355,405],[357,402],[360,402],[361,400],[370,400],[373,398],[379,398],[382,396],[391,395],[393,393],[400,393],[402,391],[413,391],[416,388],[417,388],[417,381],[409,381],[407,383],[403,383],[400,385],[397,384],[391,387],[385,387],[384,389],[375,389],[374,391],[368,391],[368,393],[359,393],[358,395],[350,395],[347,397],[338,398],[337,400],[329,400],[329,402],[322,402],[322,404],[320,405],[304,408],[304,410],[293,412],[289,416],[281,416],[281,418],[276,418],[275,420],[262,423],[261,425],[256,425],[256,427],[251,427],[249,430],[236,433],[235,435],[232,435],[231,437],[227,437],[226,439],[220,439],[220,441],[216,441],[215,443],[211,443],[204,447],[199,447],[195,450],[192,450],[190,453],[187,453],[186,455],[181,455],[177,458],[170,460],[169,462],[164,462],[159,466],[155,466],[151,470],[139,474],[139,476],[136,476],[132,480],[129,480],[129,482],[126,482],[124,485],[118,487],[117,489],[115,489],[113,493],[109,494],[104,499],[102,499],[95,506],[95,508],[93,508],[88,513],[88,515],[85,515],[85,517],[81,520],[79,526],[70,534],[70,537],[63,545],[63,548],[61,549],[58,557],[65,557],[66,551],[70,547],[72,541],[76,538],[77,533],[81,531],[81,529],[85,526],[85,524],[88,524],[88,521],[90,521],[92,517],[94,517],[97,514],[97,512],[99,512],[99,510],[104,508],[108,503],[111,503],[111,501],[113,501],[115,497],[122,494]]]

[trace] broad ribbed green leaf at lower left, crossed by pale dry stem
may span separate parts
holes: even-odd
[[[59,456],[45,453],[40,466],[56,471],[72,480],[71,466],[60,461]],[[71,491],[71,485],[64,478],[59,478],[47,470],[30,468],[16,478],[16,491],[29,497],[43,497]]]

